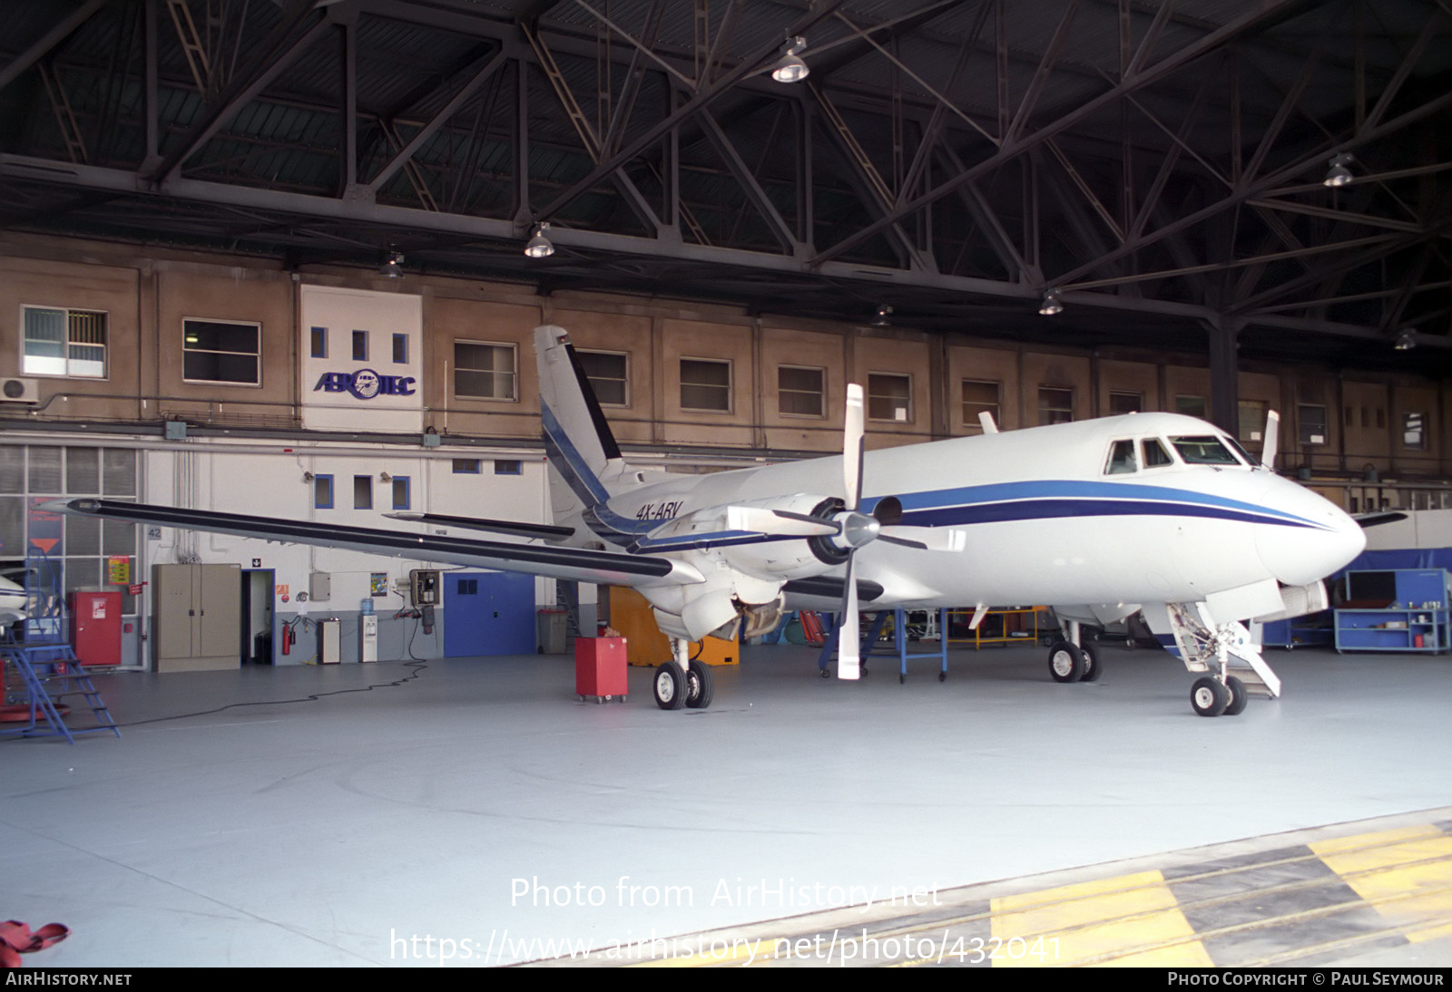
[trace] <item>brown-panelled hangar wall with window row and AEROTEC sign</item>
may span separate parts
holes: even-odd
[[[974,434],[980,410],[1005,429],[1133,409],[1211,412],[1204,355],[929,336],[608,293],[539,296],[446,276],[286,271],[15,232],[0,233],[0,379],[36,390],[33,403],[0,406],[3,444],[138,451],[138,499],[202,509],[354,525],[404,508],[544,521],[530,354],[542,322],[565,326],[587,355],[620,441],[684,471],[835,451],[848,381],[867,389],[870,447]],[[1445,486],[1448,392],[1408,376],[1246,365],[1239,434],[1257,452],[1265,413],[1279,409],[1281,470],[1353,512],[1371,509],[1388,490],[1347,495],[1343,484]],[[184,441],[163,437],[167,421],[186,423]],[[327,500],[319,477],[331,483]],[[0,558],[25,544],[26,512],[6,500],[38,495],[25,484],[0,493]],[[277,570],[277,586],[305,589],[311,573],[328,573],[328,615],[356,615],[382,570],[353,553],[216,535],[134,540],[135,576],[157,563],[257,560]],[[109,547],[122,541],[112,535]],[[90,584],[102,561],[78,563],[67,584]],[[425,564],[386,570],[392,579]],[[553,603],[553,583],[537,582],[536,595]],[[279,603],[280,616],[289,605]],[[147,593],[128,599],[136,637],[148,609]],[[131,657],[144,657],[138,644]]]

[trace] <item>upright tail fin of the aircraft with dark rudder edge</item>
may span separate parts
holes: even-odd
[[[603,503],[611,495],[605,480],[619,479],[624,463],[565,329],[534,328],[534,358],[550,466],[587,508]]]

